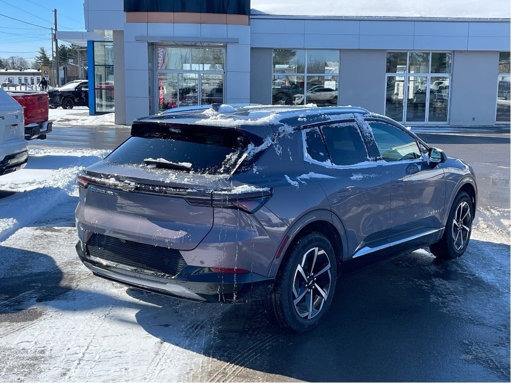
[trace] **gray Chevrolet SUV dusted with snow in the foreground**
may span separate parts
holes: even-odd
[[[78,184],[76,248],[94,274],[197,301],[263,300],[298,332],[347,271],[424,246],[459,257],[477,200],[467,163],[352,107],[140,118]]]

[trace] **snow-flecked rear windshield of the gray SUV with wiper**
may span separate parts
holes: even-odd
[[[105,158],[106,162],[178,172],[229,174],[250,143],[233,129],[153,124],[137,129],[135,135]],[[173,169],[172,164],[181,166]]]

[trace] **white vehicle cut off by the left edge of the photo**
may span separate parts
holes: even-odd
[[[0,89],[0,176],[23,169],[28,158],[23,108]]]

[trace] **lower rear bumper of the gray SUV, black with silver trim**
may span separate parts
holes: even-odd
[[[273,278],[254,273],[220,274],[191,266],[175,276],[126,267],[91,256],[82,241],[77,243],[76,251],[83,264],[97,276],[181,299],[230,303],[261,300],[268,296],[274,283]]]

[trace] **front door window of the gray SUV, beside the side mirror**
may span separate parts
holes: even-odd
[[[368,121],[368,124],[385,161],[422,158],[415,138],[408,133],[382,122]]]

